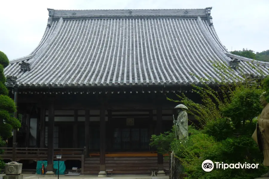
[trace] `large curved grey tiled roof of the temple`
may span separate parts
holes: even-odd
[[[229,65],[236,58],[239,70],[260,75],[248,66],[251,59],[221,44],[210,9],[48,9],[39,45],[10,61],[4,73],[25,87],[189,85],[201,84],[196,76],[220,81],[212,61]],[[30,70],[22,69],[22,61]],[[268,73],[269,63],[262,65]]]

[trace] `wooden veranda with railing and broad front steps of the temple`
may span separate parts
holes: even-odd
[[[13,148],[0,148],[3,154],[0,158],[4,160],[16,161],[33,160],[43,161],[48,159],[47,148],[16,148],[15,154]],[[85,149],[82,148],[58,148],[54,149],[53,160],[56,155],[61,154],[61,161],[76,160],[81,161],[82,174],[98,174],[100,167],[100,152],[91,152],[85,155]],[[164,157],[169,156],[168,154]],[[107,169],[113,169],[115,174],[145,174],[149,170],[158,171],[158,154],[156,152],[106,152],[105,165]],[[169,160],[164,158],[163,167],[169,168]]]

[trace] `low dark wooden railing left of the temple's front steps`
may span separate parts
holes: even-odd
[[[4,150],[3,154],[0,154],[0,158],[12,160],[12,148],[0,148]],[[81,160],[84,155],[84,149],[81,148],[58,148],[54,149],[54,159],[56,155],[61,154],[62,160]],[[16,148],[16,160],[47,160],[48,149],[47,148]]]

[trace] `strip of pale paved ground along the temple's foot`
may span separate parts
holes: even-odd
[[[4,174],[0,174],[0,179],[2,179],[3,175]],[[58,178],[58,176],[47,177],[46,175],[35,175],[35,174],[22,174],[22,175],[24,179],[57,179]],[[59,178],[60,179],[168,179],[169,176],[151,177],[149,175],[113,175],[112,177],[97,177],[97,175],[79,175],[79,176],[59,175]]]

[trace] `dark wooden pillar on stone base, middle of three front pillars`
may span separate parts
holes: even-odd
[[[106,149],[106,115],[105,107],[100,110],[100,172],[98,177],[105,177],[105,149]]]

